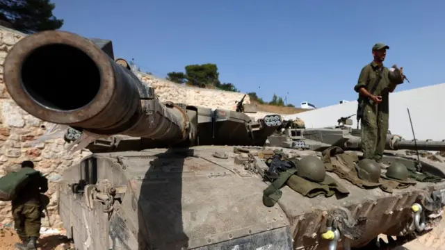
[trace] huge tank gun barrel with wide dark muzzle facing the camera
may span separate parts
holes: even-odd
[[[21,108],[47,122],[166,142],[189,135],[183,109],[161,103],[129,69],[74,33],[44,31],[17,42],[4,80]]]

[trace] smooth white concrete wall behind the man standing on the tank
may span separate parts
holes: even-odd
[[[403,83],[410,84],[410,83]],[[445,83],[423,88],[405,90],[389,94],[389,130],[393,134],[412,140],[412,124],[417,140],[445,139]],[[337,104],[325,108],[306,111],[295,115],[285,115],[285,119],[299,117],[307,128],[320,128],[337,124],[337,119],[357,112],[357,101]],[[353,127],[357,127],[357,118],[352,117]]]

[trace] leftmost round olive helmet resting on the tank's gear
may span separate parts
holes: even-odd
[[[320,183],[325,181],[326,169],[323,162],[316,156],[304,156],[298,161],[297,175],[309,181]]]

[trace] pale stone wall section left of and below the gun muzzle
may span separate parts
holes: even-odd
[[[23,37],[22,33],[0,28],[0,176],[19,168],[23,160],[33,160],[37,169],[49,178],[49,190],[46,194],[51,197],[48,207],[51,225],[61,226],[56,213],[56,183],[60,180],[63,169],[87,156],[89,152],[78,151],[67,155],[63,153],[63,139],[48,140],[31,147],[31,142],[43,135],[51,124],[42,122],[19,108],[10,99],[3,83],[4,59],[13,45]],[[48,220],[43,219],[42,223],[47,226]],[[10,202],[0,201],[0,224],[13,224]]]

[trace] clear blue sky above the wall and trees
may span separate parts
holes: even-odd
[[[61,28],[113,40],[115,56],[165,77],[216,63],[220,81],[299,106],[357,99],[375,42],[411,84],[445,83],[445,1],[52,0]],[[312,3],[311,3],[312,2]]]

